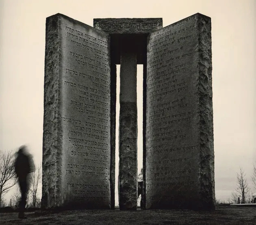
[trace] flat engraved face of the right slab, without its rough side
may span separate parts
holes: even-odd
[[[201,160],[198,30],[197,14],[148,38],[147,208],[198,203]]]

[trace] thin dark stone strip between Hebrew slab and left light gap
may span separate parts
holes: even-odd
[[[116,92],[117,92],[117,66],[111,64],[111,106],[110,106],[110,196],[111,209],[115,209],[115,123],[116,123]]]

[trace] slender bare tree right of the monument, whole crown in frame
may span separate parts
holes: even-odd
[[[236,173],[236,184],[237,184],[236,191],[242,197],[241,203],[245,204],[246,198],[247,198],[247,195],[248,195],[250,189],[248,187],[248,183],[245,178],[245,173],[244,173],[243,169],[241,169],[241,168],[240,168],[240,172]]]

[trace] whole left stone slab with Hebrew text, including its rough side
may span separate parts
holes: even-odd
[[[44,208],[110,208],[109,36],[65,15],[46,19]]]

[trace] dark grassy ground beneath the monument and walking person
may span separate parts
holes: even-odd
[[[256,207],[217,206],[215,211],[192,210],[67,210],[62,212],[27,212],[28,219],[18,219],[17,212],[1,213],[0,224],[256,224]]]

